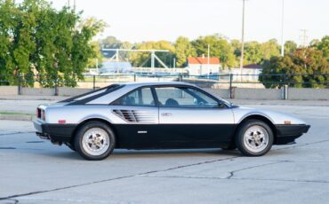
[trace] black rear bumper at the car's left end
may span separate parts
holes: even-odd
[[[40,119],[35,119],[33,124],[38,137],[50,139],[52,142],[69,142],[76,129],[76,124],[50,124]]]

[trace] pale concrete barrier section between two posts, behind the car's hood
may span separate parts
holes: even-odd
[[[237,99],[282,99],[281,90],[278,89],[236,88],[234,96]]]

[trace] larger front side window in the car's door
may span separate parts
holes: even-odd
[[[156,95],[165,107],[217,107],[218,103],[199,90],[185,87],[159,87]]]

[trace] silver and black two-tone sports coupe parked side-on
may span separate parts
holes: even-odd
[[[184,82],[113,84],[36,110],[36,134],[86,160],[114,148],[237,147],[261,156],[309,129],[292,115],[235,106]]]

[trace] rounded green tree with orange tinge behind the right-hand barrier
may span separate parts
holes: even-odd
[[[292,55],[266,60],[260,80],[267,88],[285,84],[292,87],[325,87],[328,85],[328,73],[329,62],[322,51],[303,48]]]

